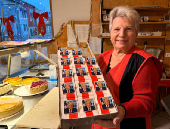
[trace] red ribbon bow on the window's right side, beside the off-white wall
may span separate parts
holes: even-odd
[[[48,20],[48,12],[44,12],[42,14],[33,12],[33,17],[34,17],[35,20],[39,17],[38,31],[44,37],[44,34],[46,33],[46,25],[45,25],[45,22],[44,22],[43,18]]]

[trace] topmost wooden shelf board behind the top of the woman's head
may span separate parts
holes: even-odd
[[[113,7],[114,8],[114,7]],[[103,9],[113,9],[113,8],[103,8]],[[132,6],[135,10],[150,10],[150,11],[168,11],[170,10],[170,7],[166,8],[151,8],[151,7],[138,7],[138,6]]]

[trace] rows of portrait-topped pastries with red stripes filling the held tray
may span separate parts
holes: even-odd
[[[58,65],[62,119],[117,112],[95,58],[83,58],[80,49],[61,48]]]

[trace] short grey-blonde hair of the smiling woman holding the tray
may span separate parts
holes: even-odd
[[[117,6],[110,11],[110,23],[109,23],[109,30],[111,32],[112,29],[112,23],[114,18],[116,17],[124,17],[129,18],[131,21],[134,21],[135,28],[138,31],[139,30],[139,22],[140,22],[140,16],[138,12],[129,6]]]

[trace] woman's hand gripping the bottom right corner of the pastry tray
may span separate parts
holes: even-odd
[[[116,128],[120,125],[124,115],[125,109],[122,106],[117,106],[118,114],[113,120],[96,120],[95,124],[101,125],[103,127]]]

